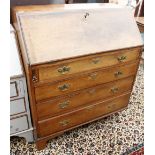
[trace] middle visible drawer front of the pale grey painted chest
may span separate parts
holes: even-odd
[[[25,99],[15,99],[10,101],[10,115],[17,115],[26,112]]]

